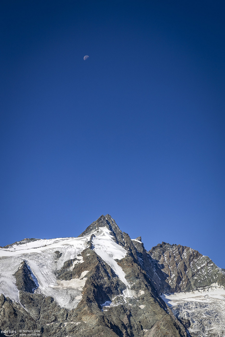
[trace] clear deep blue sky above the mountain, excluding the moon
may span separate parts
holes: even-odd
[[[225,268],[224,4],[0,6],[0,245],[109,213]]]

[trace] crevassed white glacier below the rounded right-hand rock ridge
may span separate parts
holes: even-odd
[[[212,284],[208,288],[163,294],[163,300],[178,319],[189,322],[192,337],[225,336],[225,288]]]

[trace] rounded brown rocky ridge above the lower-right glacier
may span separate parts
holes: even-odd
[[[225,273],[208,256],[181,245],[162,242],[148,252],[167,275],[162,292],[190,291],[213,283],[225,286]]]

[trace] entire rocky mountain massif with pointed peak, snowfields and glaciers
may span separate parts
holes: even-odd
[[[225,271],[101,216],[77,238],[0,248],[1,336],[223,337]]]

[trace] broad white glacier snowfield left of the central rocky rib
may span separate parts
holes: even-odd
[[[15,272],[23,261],[30,267],[38,282],[38,290],[45,296],[52,296],[62,307],[74,308],[80,301],[85,279],[73,282],[59,281],[56,271],[65,261],[77,257],[87,246],[90,235],[83,238],[58,238],[37,240],[11,248],[0,248],[0,293],[19,302]],[[56,251],[61,256],[56,258]]]

